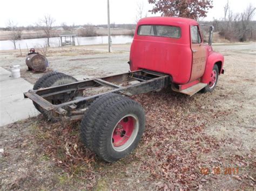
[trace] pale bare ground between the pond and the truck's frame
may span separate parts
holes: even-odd
[[[42,53],[42,49],[36,51]],[[113,53],[107,53],[106,45],[50,48],[46,53],[49,68],[45,73],[57,70],[82,80],[84,77],[127,72],[130,44],[114,45],[113,51]],[[22,55],[19,51],[0,51],[0,66],[10,70],[10,66],[20,65],[21,77],[35,83],[44,73],[27,71],[26,54],[26,49],[22,51]]]

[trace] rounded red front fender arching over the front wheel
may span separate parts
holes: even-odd
[[[205,72],[201,78],[202,83],[210,82],[211,73],[215,63],[219,68],[219,74],[223,73],[222,70],[223,70],[223,64],[224,64],[224,56],[218,52],[213,52],[207,58]]]

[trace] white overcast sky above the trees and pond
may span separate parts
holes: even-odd
[[[28,1],[2,0],[0,3],[0,26],[5,27],[9,19],[18,23],[18,26],[34,25],[43,15],[50,14],[56,19],[56,25],[66,23],[80,24],[107,24],[107,0],[72,0],[72,1]],[[135,23],[137,4],[144,4],[145,12],[152,8],[147,0],[110,0],[110,20],[116,24]],[[233,12],[245,10],[248,4],[256,6],[253,0],[229,0]],[[226,0],[213,0],[213,9],[208,12],[204,20],[223,18],[223,7]],[[147,16],[156,16],[147,13]],[[254,16],[255,20],[255,16]]]

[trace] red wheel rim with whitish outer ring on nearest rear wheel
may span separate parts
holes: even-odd
[[[128,148],[138,134],[138,118],[132,114],[124,116],[112,132],[112,147],[116,151]]]

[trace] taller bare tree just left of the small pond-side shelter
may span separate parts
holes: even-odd
[[[50,46],[50,37],[52,34],[52,25],[55,22],[55,19],[51,15],[45,15],[42,19],[39,20],[38,26],[42,28],[47,38],[47,46]]]

